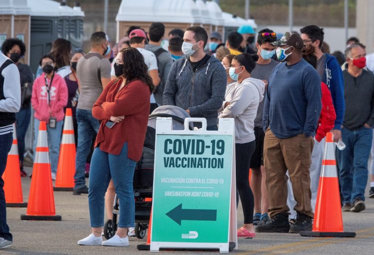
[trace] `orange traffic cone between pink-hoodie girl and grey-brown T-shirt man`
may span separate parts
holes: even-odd
[[[58,158],[56,182],[53,190],[72,191],[75,174],[75,140],[71,108],[66,109],[64,129]]]

